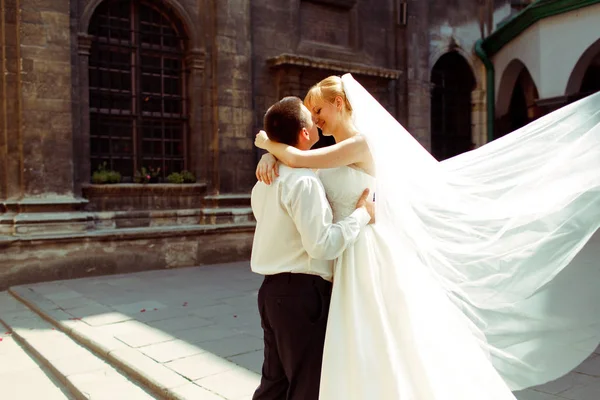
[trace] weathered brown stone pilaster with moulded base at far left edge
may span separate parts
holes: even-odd
[[[74,197],[69,2],[0,0],[0,235],[89,229]]]

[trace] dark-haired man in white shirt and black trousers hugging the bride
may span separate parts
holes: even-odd
[[[271,140],[309,150],[319,139],[297,97],[275,103],[264,117]],[[271,185],[252,190],[256,232],[252,271],[264,275],[258,307],[264,362],[254,400],[317,400],[331,299],[333,261],[374,215],[368,190],[348,218],[333,223],[325,190],[313,171],[281,165]]]

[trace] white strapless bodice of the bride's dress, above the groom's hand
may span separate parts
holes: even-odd
[[[375,191],[375,178],[356,168],[321,169],[317,175],[325,187],[334,222],[352,214],[356,202],[366,188],[369,188],[371,193]]]

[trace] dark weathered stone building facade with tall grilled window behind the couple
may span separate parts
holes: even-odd
[[[247,259],[262,116],[331,74],[438,158],[485,143],[473,48],[511,3],[0,0],[0,289]]]

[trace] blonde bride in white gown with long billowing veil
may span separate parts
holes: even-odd
[[[514,399],[593,352],[600,94],[443,162],[349,74],[305,105],[334,146],[264,133],[256,145],[321,168],[335,219],[365,186],[377,203],[377,223],[336,261],[321,399]]]

